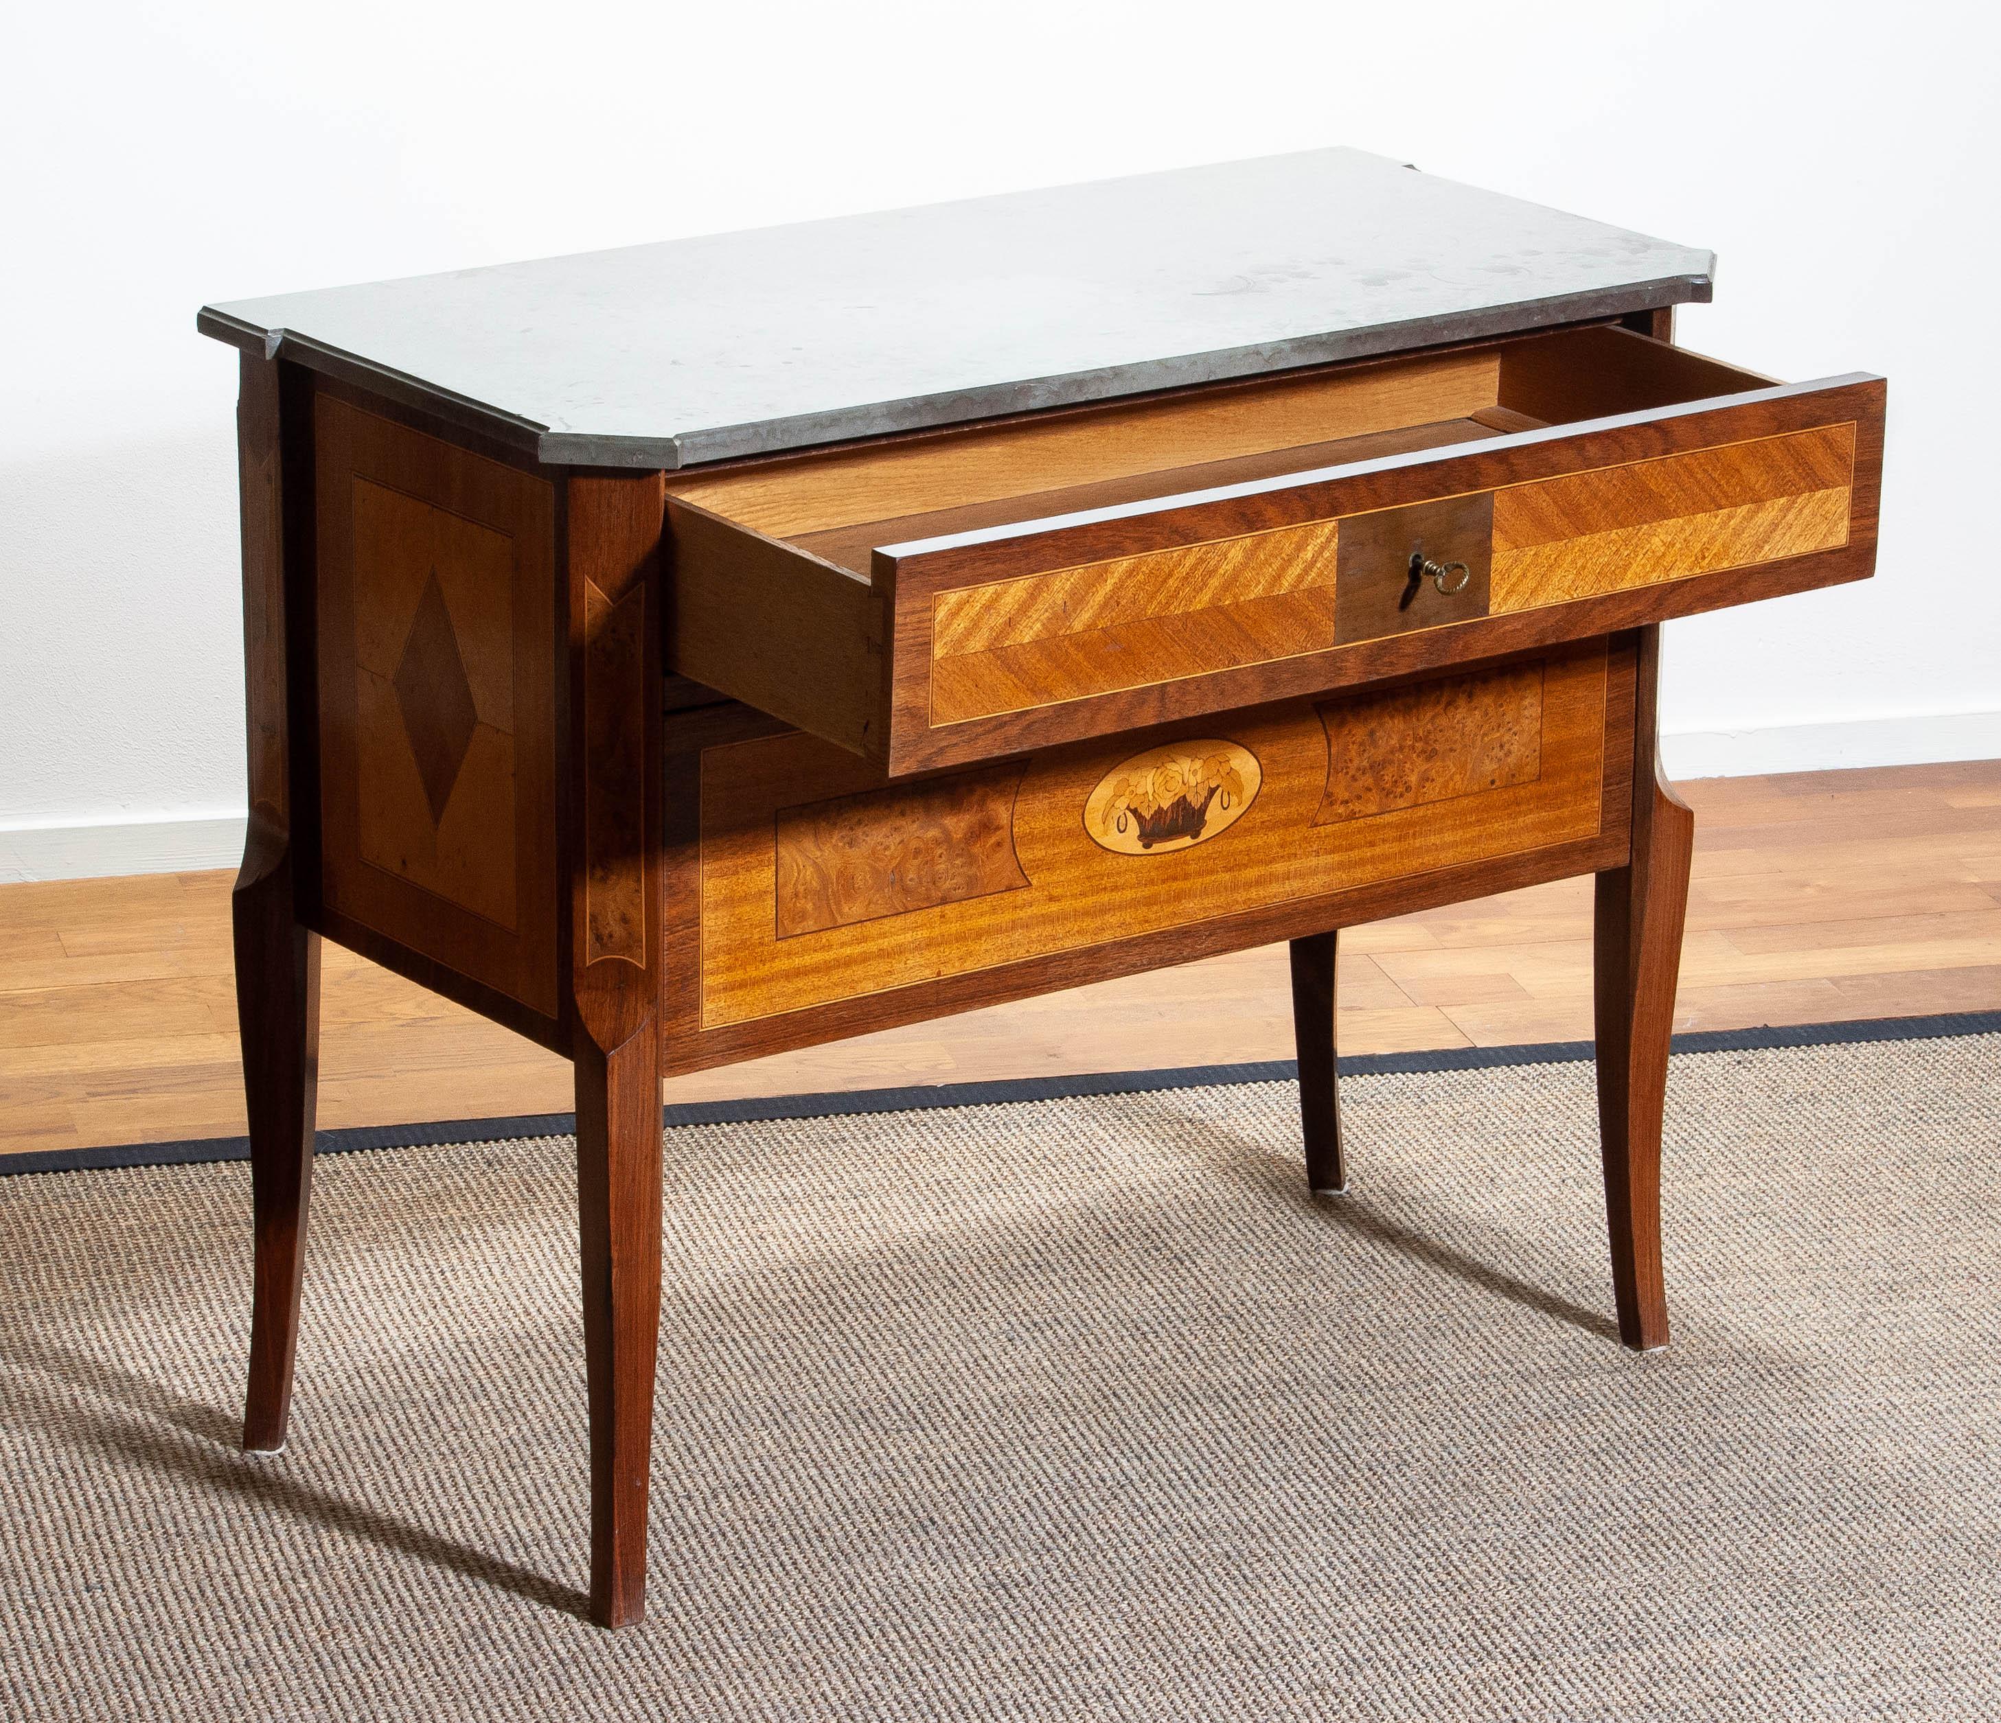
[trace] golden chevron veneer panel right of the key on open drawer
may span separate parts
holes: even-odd
[[[1827,424],[1495,494],[1493,610],[1533,610],[1849,542],[1855,426]]]

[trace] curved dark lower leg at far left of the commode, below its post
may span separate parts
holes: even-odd
[[[238,883],[230,903],[256,1241],[244,1395],[244,1447],[252,1453],[284,1447],[292,1409],[320,1079],[320,937],[292,919],[288,873],[280,867]]]

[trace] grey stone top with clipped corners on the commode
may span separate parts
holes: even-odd
[[[206,306],[542,460],[688,466],[1707,300],[1715,258],[1363,150]]]

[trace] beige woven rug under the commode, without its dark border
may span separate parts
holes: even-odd
[[[0,1179],[0,1715],[2001,1717],[2001,1035],[668,1133],[650,1619],[584,1581],[562,1139]]]

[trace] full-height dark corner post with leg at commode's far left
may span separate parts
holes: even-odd
[[[288,580],[284,460],[274,360],[244,354],[236,402],[242,484],[244,686],[250,826],[230,897],[236,1021],[250,1125],[252,1293],[244,1449],[284,1447],[298,1355],[312,1133],[320,1063],[320,937],[300,923],[292,842],[288,618],[308,596]],[[292,588],[288,592],[288,586]]]

